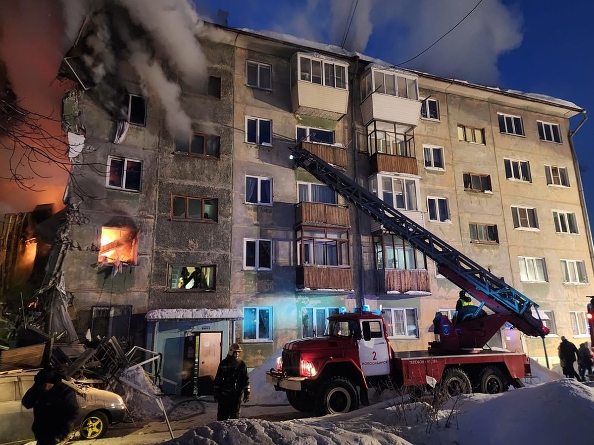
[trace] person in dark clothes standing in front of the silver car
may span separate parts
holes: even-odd
[[[21,403],[27,409],[33,408],[31,430],[37,445],[55,445],[68,436],[77,417],[76,394],[50,368],[39,371],[34,382]]]

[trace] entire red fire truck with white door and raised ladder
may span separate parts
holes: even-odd
[[[359,211],[379,222],[431,258],[441,275],[481,304],[465,307],[456,320],[437,313],[434,332],[438,340],[426,351],[395,352],[380,311],[362,307],[352,313],[328,317],[323,336],[289,342],[277,360],[277,369],[266,380],[287,394],[299,411],[333,414],[368,404],[370,386],[437,386],[452,396],[478,390],[499,393],[523,386],[530,374],[525,354],[492,351],[485,345],[504,325],[511,323],[531,336],[544,336],[548,329],[538,313],[538,304],[491,274],[463,253],[405,215],[378,199],[369,190],[301,147],[291,158]],[[594,303],[594,301],[593,301]],[[487,314],[483,308],[491,310]]]

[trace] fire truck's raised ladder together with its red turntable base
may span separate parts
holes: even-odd
[[[438,319],[440,341],[431,342],[429,351],[482,348],[506,322],[529,336],[544,339],[549,333],[549,329],[542,323],[538,312],[539,305],[535,301],[386,204],[374,193],[303,148],[301,144],[289,149],[290,158],[299,167],[307,170],[372,220],[377,221],[385,230],[402,237],[419,252],[424,253],[435,262],[441,275],[480,301],[475,315],[478,315],[484,306],[493,312],[481,317],[470,317],[463,322],[456,322],[455,325],[447,316],[441,316],[441,319]]]

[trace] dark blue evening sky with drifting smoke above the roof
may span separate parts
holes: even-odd
[[[350,0],[196,0],[201,14],[229,12],[229,26],[274,30],[338,43]],[[400,63],[435,42],[478,0],[359,0],[351,34],[365,34],[366,55]],[[342,17],[340,17],[342,14]],[[563,98],[590,119],[574,138],[590,217],[594,217],[594,1],[484,0],[452,33],[409,63],[432,74]],[[360,26],[359,26],[360,25]],[[359,27],[358,27],[359,26]],[[371,32],[371,34],[369,34]],[[356,46],[356,42],[349,42]],[[347,44],[348,47],[348,44]],[[352,47],[349,49],[353,49]],[[466,56],[465,56],[466,54]],[[455,66],[447,61],[454,60]],[[576,128],[581,115],[571,119]]]

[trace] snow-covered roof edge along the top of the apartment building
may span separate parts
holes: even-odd
[[[235,28],[233,28],[235,29]],[[471,88],[481,88],[484,90],[493,91],[494,93],[501,93],[506,94],[508,96],[516,96],[519,98],[524,98],[527,100],[538,101],[542,103],[552,104],[558,107],[568,108],[574,110],[576,112],[582,112],[583,107],[580,107],[574,104],[571,101],[563,100],[557,97],[547,96],[546,94],[539,94],[539,93],[524,93],[523,91],[517,90],[503,90],[502,88],[498,87],[488,87],[486,85],[475,84],[472,82],[468,82],[465,80],[457,80],[457,79],[450,79],[447,77],[441,77],[434,74],[429,74],[422,71],[415,71],[414,69],[402,68],[400,66],[395,66],[393,63],[388,63],[381,59],[376,59],[371,56],[367,56],[365,54],[355,52],[355,51],[347,51],[344,48],[341,48],[336,45],[327,45],[326,43],[319,43],[313,42],[312,40],[302,39],[301,37],[291,36],[290,34],[283,34],[277,33],[276,31],[266,31],[266,30],[252,30],[249,28],[236,28],[238,31],[242,31],[247,34],[254,34],[255,36],[267,37],[268,39],[272,40],[279,40],[280,42],[285,43],[292,43],[293,45],[302,46],[306,48],[311,48],[318,51],[323,51],[326,53],[331,53],[337,56],[342,56],[343,58],[359,58],[360,61],[371,63],[378,69],[394,69],[403,72],[404,74],[416,74],[416,75],[425,75],[428,77],[432,77],[437,80],[443,80],[448,82],[456,82],[457,84],[467,85]]]

